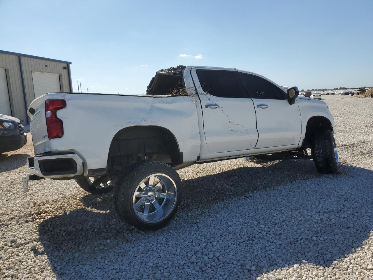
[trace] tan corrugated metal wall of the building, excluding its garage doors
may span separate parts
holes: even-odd
[[[25,81],[25,92],[27,107],[35,99],[34,85],[32,83],[32,71],[54,73],[60,75],[60,84],[62,92],[70,92],[69,71],[67,63],[51,60],[38,59],[33,57],[21,56],[23,78]],[[46,65],[48,66],[46,68]],[[10,106],[14,117],[19,118],[23,124],[27,124],[28,119],[23,97],[21,69],[19,67],[19,56],[7,53],[0,53],[0,68],[7,69],[9,73],[8,88],[10,96]]]

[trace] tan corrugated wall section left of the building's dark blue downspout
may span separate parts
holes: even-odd
[[[8,90],[13,116],[19,118],[22,123],[27,123],[18,56],[0,53],[0,68],[7,69],[9,74]]]

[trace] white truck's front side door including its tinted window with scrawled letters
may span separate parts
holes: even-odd
[[[255,148],[298,144],[302,131],[298,102],[290,105],[282,88],[263,77],[241,73],[241,78],[256,111]]]

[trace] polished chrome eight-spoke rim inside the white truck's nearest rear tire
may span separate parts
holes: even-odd
[[[146,223],[165,219],[175,208],[178,190],[166,174],[151,174],[135,189],[132,206],[136,216]]]

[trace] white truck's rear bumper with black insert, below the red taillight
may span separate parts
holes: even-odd
[[[30,174],[51,179],[72,179],[83,172],[83,160],[76,153],[40,155],[27,158]]]

